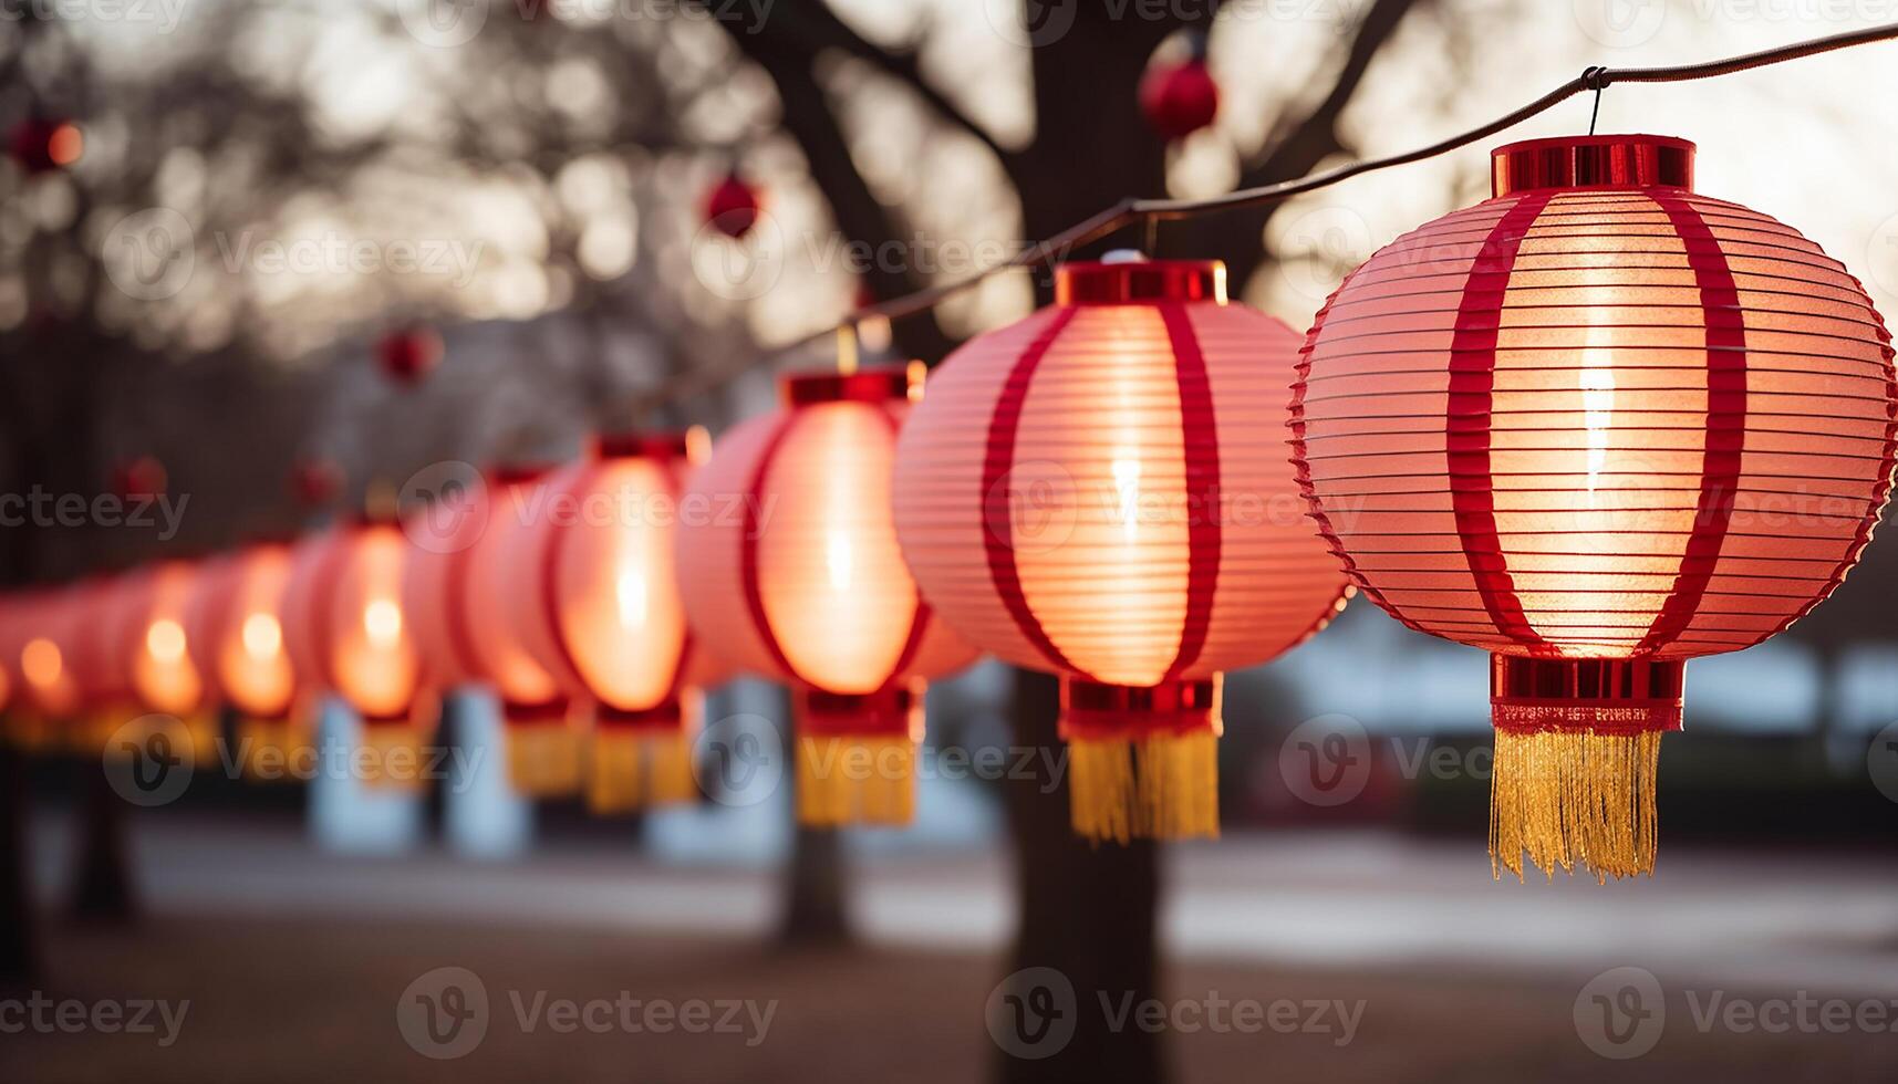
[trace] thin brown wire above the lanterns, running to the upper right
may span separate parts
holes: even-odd
[[[1503,129],[1515,127],[1534,116],[1549,112],[1556,104],[1583,93],[1594,91],[1596,110],[1602,104],[1602,91],[1613,84],[1685,84],[1695,80],[1712,80],[1720,76],[1731,76],[1746,72],[1752,68],[1763,68],[1767,65],[1782,65],[1786,61],[1799,61],[1805,57],[1814,57],[1818,53],[1832,53],[1837,49],[1849,49],[1852,46],[1870,46],[1873,42],[1889,42],[1898,38],[1898,23],[1883,27],[1866,27],[1862,30],[1847,30],[1843,34],[1828,34],[1824,38],[1813,38],[1809,42],[1794,42],[1790,46],[1775,46],[1771,49],[1759,49],[1756,53],[1740,53],[1737,57],[1723,57],[1716,61],[1701,61],[1695,65],[1668,65],[1657,68],[1606,68],[1589,66],[1579,76],[1568,80],[1566,84],[1554,87],[1553,91],[1541,95],[1539,99],[1522,104],[1488,123],[1477,125],[1473,129],[1456,133],[1448,139],[1441,139],[1433,144],[1420,146],[1416,150],[1406,150],[1401,154],[1391,154],[1386,158],[1367,158],[1363,161],[1351,161],[1336,169],[1327,169],[1302,177],[1296,180],[1283,180],[1277,184],[1262,184],[1258,188],[1241,188],[1237,192],[1228,192],[1224,196],[1215,196],[1211,199],[1137,199],[1127,197],[1112,207],[1099,211],[1067,230],[1061,230],[1053,237],[1036,241],[1014,256],[1000,260],[968,275],[966,279],[957,279],[955,283],[943,283],[936,287],[926,287],[900,298],[890,298],[886,302],[877,302],[854,309],[843,321],[824,330],[812,332],[797,342],[763,351],[757,355],[738,355],[736,361],[717,366],[704,366],[695,370],[685,370],[678,378],[662,382],[651,393],[640,399],[638,410],[643,414],[655,410],[668,402],[687,399],[714,387],[723,385],[752,368],[763,366],[767,363],[778,361],[786,355],[809,349],[810,346],[831,338],[839,328],[856,327],[867,319],[888,319],[898,321],[913,315],[921,315],[934,309],[943,300],[953,298],[964,290],[970,290],[987,279],[1014,270],[1040,270],[1055,264],[1067,252],[1089,245],[1112,234],[1118,234],[1129,226],[1144,226],[1150,232],[1160,220],[1167,218],[1198,218],[1203,215],[1219,215],[1222,211],[1239,211],[1245,207],[1264,207],[1270,203],[1281,203],[1294,196],[1304,196],[1306,192],[1317,192],[1321,188],[1330,188],[1332,184],[1361,177],[1365,173],[1376,173],[1380,169],[1391,169],[1395,165],[1410,165],[1412,161],[1424,161],[1427,158],[1437,158],[1452,150],[1469,146],[1471,142],[1488,139]],[[1589,118],[1589,131],[1594,131],[1594,116]]]

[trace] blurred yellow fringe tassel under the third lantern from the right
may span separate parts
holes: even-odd
[[[917,742],[909,737],[799,737],[797,820],[903,826],[917,814]]]

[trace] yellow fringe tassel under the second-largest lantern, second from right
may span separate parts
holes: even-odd
[[[1219,733],[1069,740],[1074,833],[1112,839],[1219,837]]]

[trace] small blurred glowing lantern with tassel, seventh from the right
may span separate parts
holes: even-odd
[[[239,754],[252,775],[307,746],[294,725],[296,674],[285,651],[283,596],[290,547],[258,543],[207,562],[186,632],[207,699],[237,712]]]

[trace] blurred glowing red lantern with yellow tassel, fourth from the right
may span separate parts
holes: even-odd
[[[600,439],[549,484],[511,623],[562,687],[592,710],[588,805],[600,813],[691,801],[700,687],[674,575],[687,444],[678,435]]]

